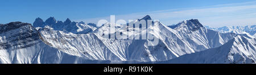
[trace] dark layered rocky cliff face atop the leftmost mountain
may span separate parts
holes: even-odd
[[[31,24],[13,22],[0,26],[1,48],[26,48],[39,43],[38,31]]]

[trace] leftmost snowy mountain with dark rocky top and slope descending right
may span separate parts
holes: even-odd
[[[86,59],[68,55],[48,45],[31,24],[13,22],[0,25],[0,63],[82,63],[83,61]]]

